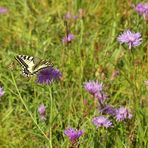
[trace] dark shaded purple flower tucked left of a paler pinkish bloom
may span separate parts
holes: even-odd
[[[113,107],[109,105],[106,105],[104,108],[100,110],[100,112],[103,114],[110,114],[114,116],[116,114],[116,109],[114,109]]]

